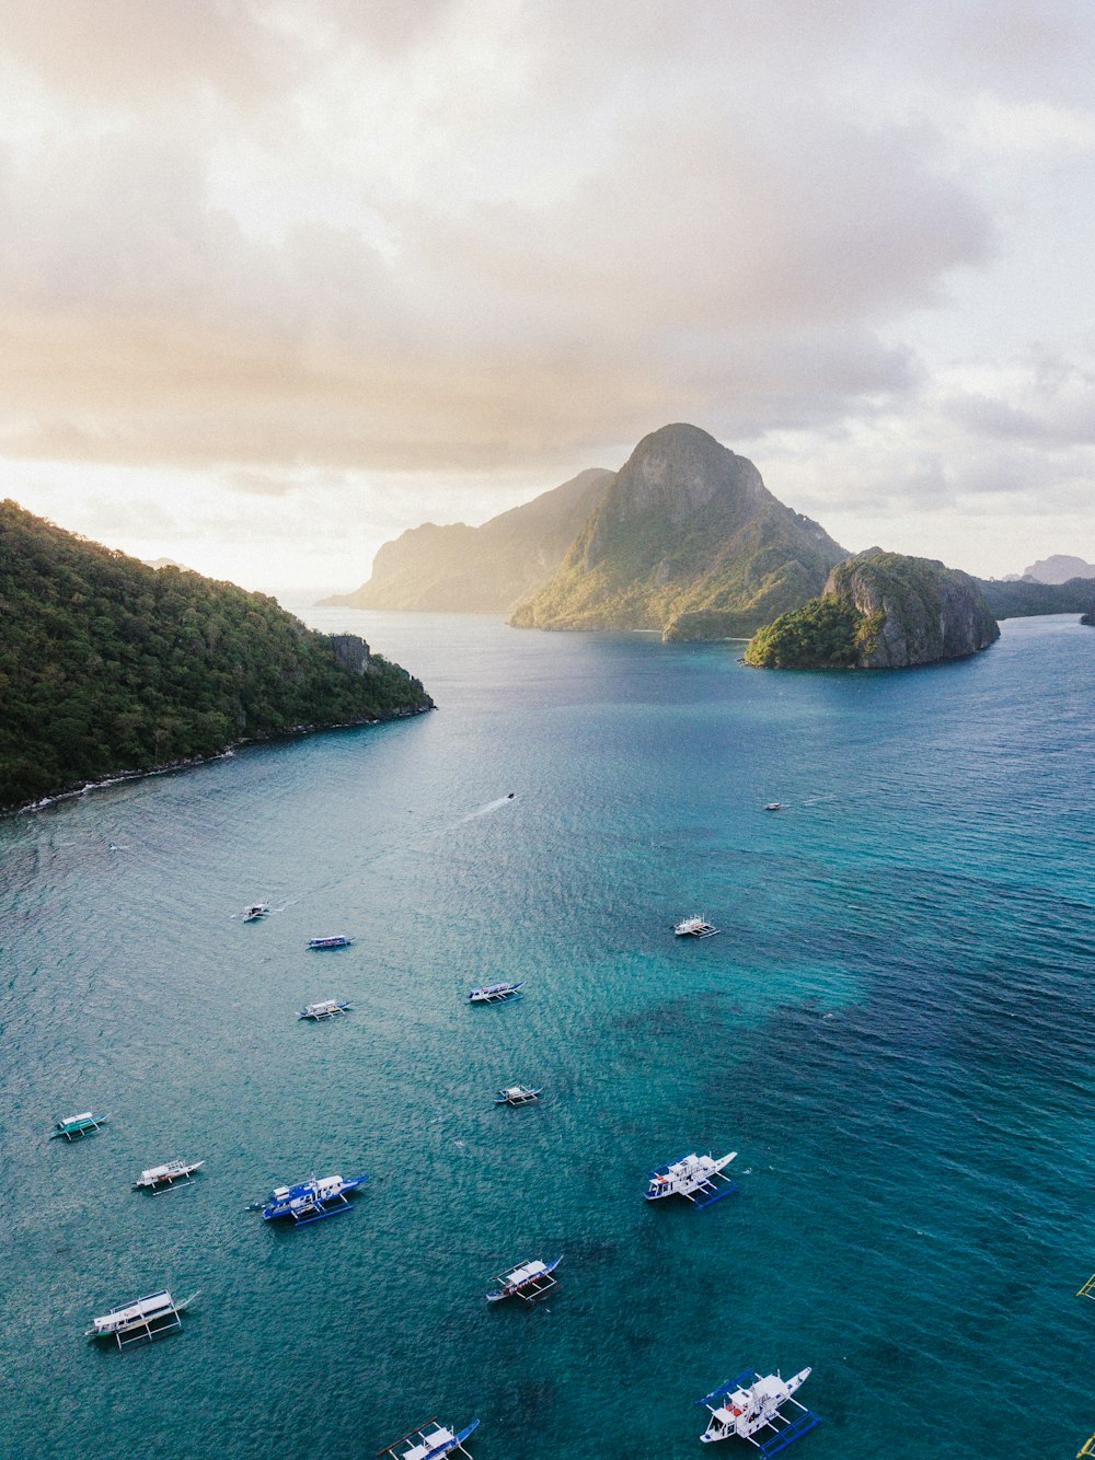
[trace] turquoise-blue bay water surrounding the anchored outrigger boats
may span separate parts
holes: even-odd
[[[813,1365],[802,1460],[1075,1454],[1095,632],[856,676],[311,619],[438,712],[0,823],[4,1456],[365,1457],[438,1413],[476,1460],[686,1457],[748,1365]],[[723,934],[675,942],[695,911]],[[298,1023],[321,997],[355,1010]],[[514,1080],[540,1105],[496,1110]],[[648,1206],[691,1149],[740,1193]],[[130,1191],[171,1156],[206,1168]],[[295,1232],[247,1210],[312,1169],[372,1180]],[[555,1253],[549,1301],[483,1301]],[[201,1289],[181,1334],[82,1337],[161,1285]]]

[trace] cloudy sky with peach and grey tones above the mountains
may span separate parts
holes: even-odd
[[[4,0],[0,496],[347,591],[702,426],[1095,561],[1091,0]]]

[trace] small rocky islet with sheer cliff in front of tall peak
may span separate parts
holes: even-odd
[[[904,669],[965,658],[1000,637],[975,578],[930,558],[869,548],[829,574],[825,593],[759,629],[746,664]]]

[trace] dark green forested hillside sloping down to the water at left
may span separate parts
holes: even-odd
[[[0,502],[0,809],[293,730],[432,705],[350,635]]]

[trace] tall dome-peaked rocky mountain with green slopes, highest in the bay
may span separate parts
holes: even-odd
[[[748,635],[821,593],[842,558],[818,523],[772,496],[752,461],[696,426],[663,426],[639,441],[556,574],[510,622]]]

